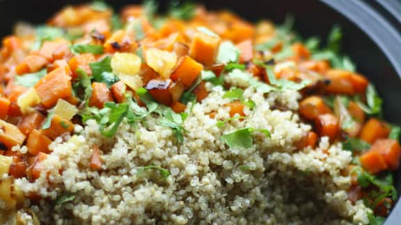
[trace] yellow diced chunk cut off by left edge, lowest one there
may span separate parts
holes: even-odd
[[[13,185],[14,178],[11,176],[0,179],[0,211],[15,209],[17,201],[13,198]]]

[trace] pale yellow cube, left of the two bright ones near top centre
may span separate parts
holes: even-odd
[[[111,68],[115,74],[136,75],[141,69],[141,58],[132,53],[115,53]]]

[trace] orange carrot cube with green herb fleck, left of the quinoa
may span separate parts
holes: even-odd
[[[74,131],[74,124],[72,124],[72,122],[59,115],[53,115],[52,124],[50,127],[42,130],[41,132],[48,138],[54,140],[58,136],[61,136],[65,133],[72,133],[72,131]]]

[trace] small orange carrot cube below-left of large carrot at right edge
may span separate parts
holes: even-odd
[[[377,151],[367,151],[359,157],[359,160],[363,169],[366,169],[370,174],[376,174],[388,169],[386,160]]]

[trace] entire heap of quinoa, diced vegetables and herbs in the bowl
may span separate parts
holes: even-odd
[[[67,6],[0,49],[1,224],[382,224],[400,128],[327,42],[191,3]]]

